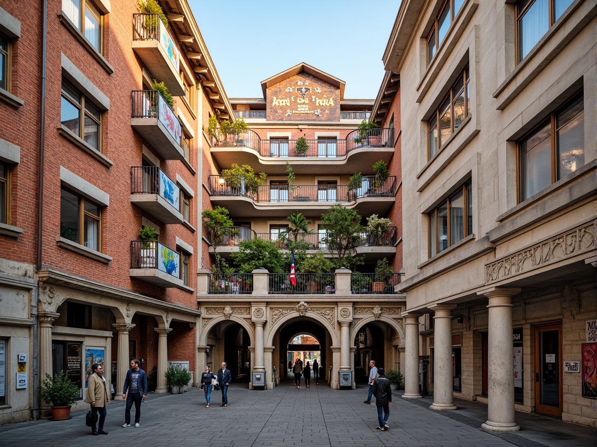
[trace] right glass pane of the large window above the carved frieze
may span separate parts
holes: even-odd
[[[584,111],[581,96],[556,116],[558,179],[584,165]]]

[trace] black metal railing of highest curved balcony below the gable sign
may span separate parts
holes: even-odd
[[[346,139],[306,140],[309,147],[305,152],[297,152],[297,141],[276,138],[262,140],[253,130],[224,133],[218,129],[211,136],[212,147],[242,146],[254,149],[264,158],[337,158],[345,157],[353,149],[367,146],[393,148],[394,129],[390,127],[355,130],[349,133]]]

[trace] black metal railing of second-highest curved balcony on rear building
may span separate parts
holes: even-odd
[[[256,203],[287,202],[350,202],[362,197],[393,197],[396,177],[379,182],[375,176],[364,176],[349,185],[260,185],[257,191],[245,186],[242,176],[212,175],[208,178],[210,194],[248,197]]]

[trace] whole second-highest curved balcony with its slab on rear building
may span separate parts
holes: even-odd
[[[255,215],[276,217],[299,210],[324,213],[337,203],[355,208],[362,216],[385,215],[394,203],[396,177],[378,184],[375,176],[364,176],[358,185],[261,185],[257,191],[245,188],[238,176],[212,175],[208,179],[211,202],[226,207],[233,218]]]

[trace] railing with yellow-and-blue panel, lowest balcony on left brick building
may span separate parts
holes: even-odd
[[[180,254],[158,241],[131,241],[131,268],[153,268],[180,278]]]

